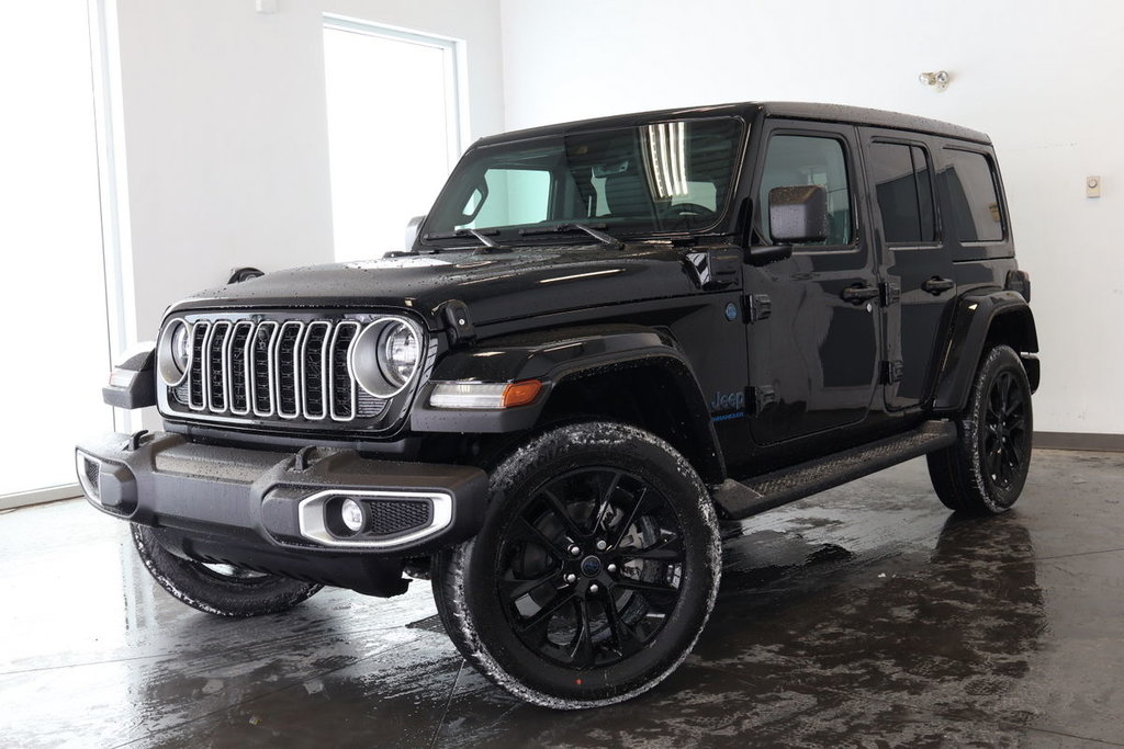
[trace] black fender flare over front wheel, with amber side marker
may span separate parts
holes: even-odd
[[[414,432],[499,433],[535,427],[551,394],[582,377],[634,367],[658,367],[673,383],[689,414],[687,428],[709,483],[725,477],[725,464],[706,399],[690,363],[667,332],[635,325],[555,328],[481,340],[442,357],[410,413]],[[543,390],[528,405],[504,410],[435,409],[437,382],[538,380]],[[718,483],[722,478],[718,478]]]

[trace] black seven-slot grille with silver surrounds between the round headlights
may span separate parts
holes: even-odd
[[[200,415],[352,421],[381,415],[348,368],[357,320],[199,320],[172,395]]]

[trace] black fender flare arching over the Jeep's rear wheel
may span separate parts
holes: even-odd
[[[1009,345],[1022,357],[1031,389],[1037,390],[1037,329],[1030,304],[1014,291],[973,291],[957,300],[951,332],[941,354],[933,410],[958,412],[968,403],[980,357],[989,340]]]

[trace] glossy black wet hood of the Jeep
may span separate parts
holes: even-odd
[[[474,325],[646,299],[698,287],[685,250],[663,243],[563,245],[511,252],[444,252],[316,265],[201,292],[189,309],[411,309],[437,329],[438,308],[460,300]]]

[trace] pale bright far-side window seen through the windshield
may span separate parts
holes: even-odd
[[[464,216],[472,216],[472,221],[457,228],[546,220],[551,197],[551,173],[546,170],[488,170],[484,186],[487,190],[477,188],[472,192],[462,211]]]

